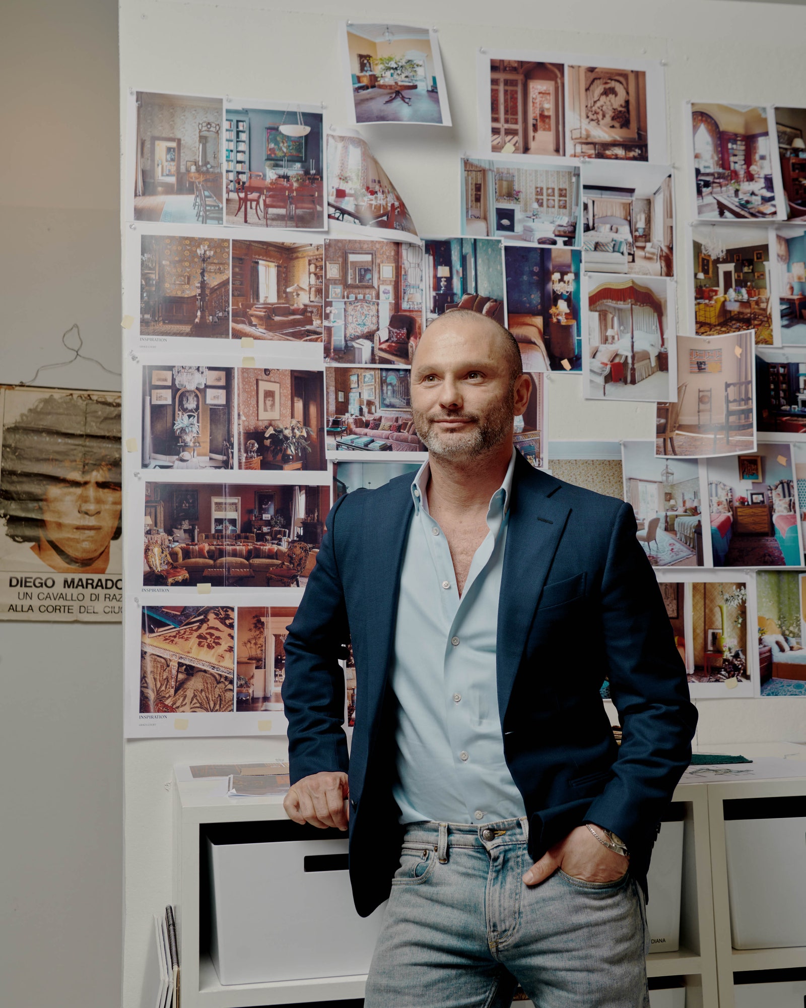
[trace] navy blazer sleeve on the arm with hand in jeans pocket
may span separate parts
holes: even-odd
[[[661,813],[691,761],[697,724],[685,665],[636,530],[633,509],[623,504],[601,584],[604,652],[622,745],[613,778],[585,816],[634,850],[651,847]]]

